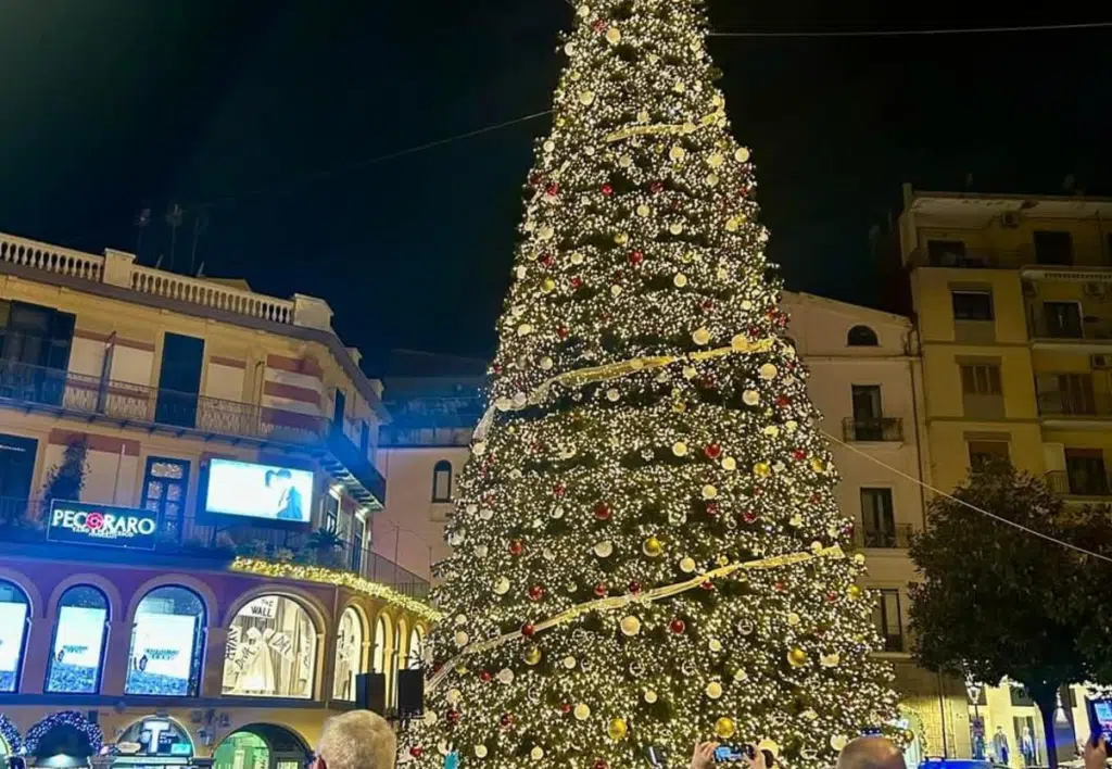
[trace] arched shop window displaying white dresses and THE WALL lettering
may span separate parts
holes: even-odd
[[[301,604],[261,595],[228,628],[224,693],[247,697],[312,697],[317,628]]]

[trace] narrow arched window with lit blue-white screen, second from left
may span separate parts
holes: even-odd
[[[79,584],[58,601],[54,642],[47,666],[47,691],[96,694],[108,630],[108,599],[97,588]]]

